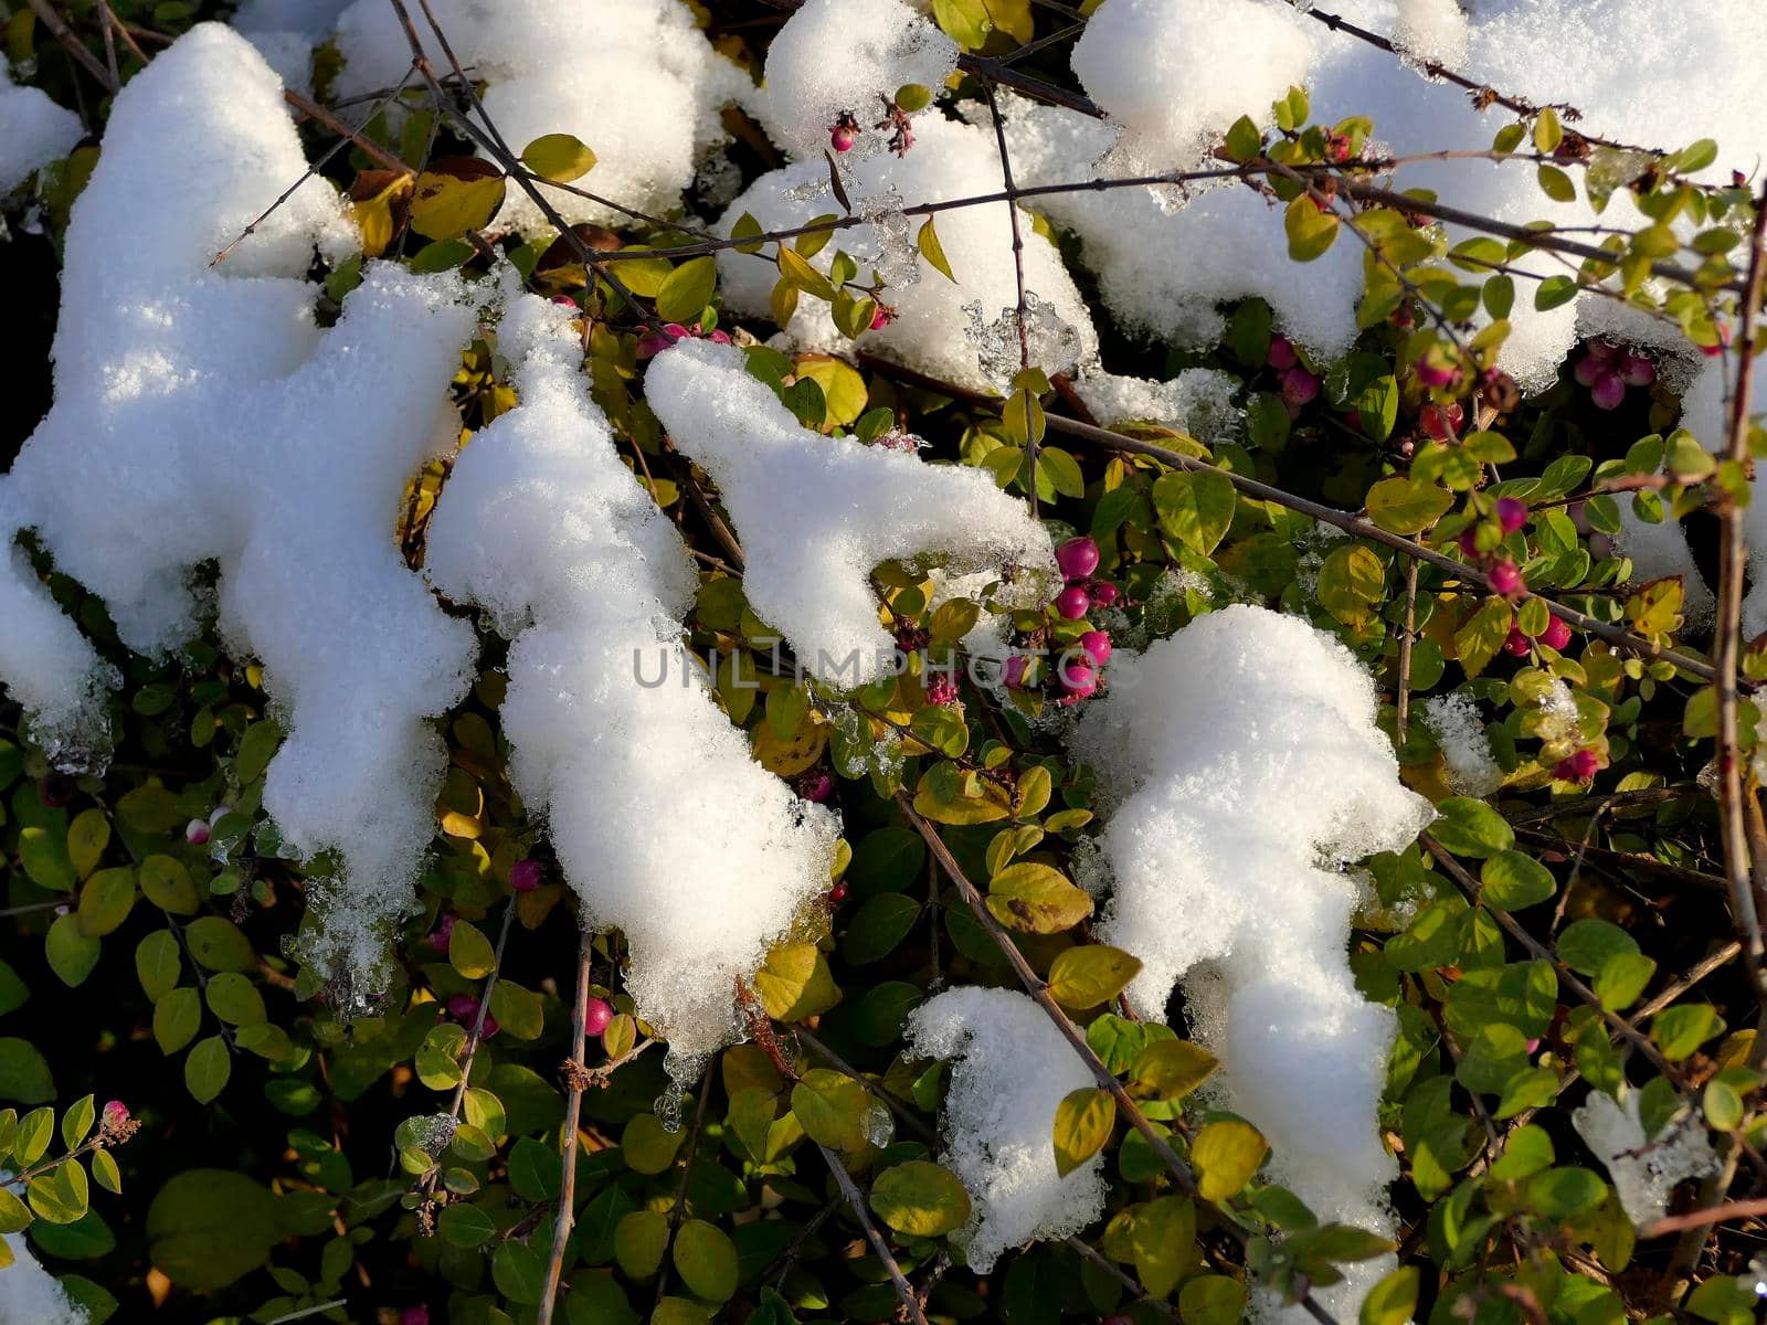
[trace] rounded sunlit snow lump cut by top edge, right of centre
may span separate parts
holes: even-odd
[[[1150,171],[1187,170],[1240,117],[1308,76],[1304,19],[1279,0],[1104,0],[1074,42],[1087,95]]]

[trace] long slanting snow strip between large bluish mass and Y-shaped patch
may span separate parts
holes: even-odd
[[[511,779],[585,919],[626,935],[638,1011],[691,1076],[739,1034],[735,980],[829,889],[838,818],[753,761],[693,671],[698,578],[590,401],[569,311],[521,297],[498,350],[521,405],[454,466],[428,574],[511,640]]]

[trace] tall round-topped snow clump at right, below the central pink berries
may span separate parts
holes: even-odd
[[[1191,975],[1191,1025],[1281,1180],[1322,1219],[1387,1228],[1396,1166],[1375,1117],[1394,1016],[1350,975],[1357,889],[1318,864],[1398,850],[1431,818],[1399,783],[1376,705],[1336,640],[1230,606],[1113,655],[1073,749],[1115,802],[1097,933],[1143,961],[1131,1000],[1159,1016]],[[1373,1277],[1359,1267],[1336,1291],[1354,1302]]]

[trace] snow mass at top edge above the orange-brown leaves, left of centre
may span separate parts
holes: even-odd
[[[717,55],[680,0],[431,0],[461,65],[488,83],[484,113],[519,154],[542,134],[571,132],[597,157],[573,187],[661,216],[680,208],[694,163],[724,141],[719,110],[753,95],[747,76]],[[436,67],[449,71],[421,9],[412,14]],[[337,19],[346,64],[337,95],[403,80],[412,48],[387,0],[355,0]],[[565,221],[627,224],[629,216],[541,186]],[[546,221],[509,187],[493,224],[535,231]]]

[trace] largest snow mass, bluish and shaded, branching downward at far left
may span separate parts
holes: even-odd
[[[311,958],[360,977],[433,834],[445,749],[426,719],[470,675],[472,631],[392,530],[472,311],[451,277],[375,263],[320,330],[315,247],[355,247],[322,180],[212,269],[304,171],[276,74],[230,28],[194,26],[129,81],[67,231],[55,406],[0,479],[0,525],[35,528],[143,654],[196,632],[189,571],[219,564],[221,629],[263,659],[288,728],[265,809],[293,850],[343,857]],[[35,731],[102,744],[108,677],[19,556],[0,602],[0,677]]]

